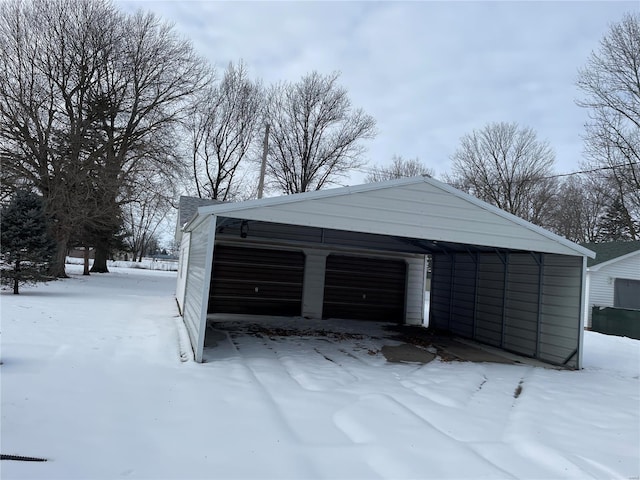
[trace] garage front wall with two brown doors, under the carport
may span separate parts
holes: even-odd
[[[424,255],[238,241],[234,231],[217,237],[208,313],[424,321]]]

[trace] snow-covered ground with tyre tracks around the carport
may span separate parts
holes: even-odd
[[[0,296],[0,450],[48,459],[3,479],[640,476],[637,340],[585,332],[581,371],[420,365],[379,324],[227,322],[199,365],[175,273],[69,270]]]

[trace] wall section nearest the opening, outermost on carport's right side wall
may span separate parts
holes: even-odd
[[[582,257],[544,256],[540,360],[579,367],[582,268]]]

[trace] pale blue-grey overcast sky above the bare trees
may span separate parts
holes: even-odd
[[[639,0],[117,3],[173,22],[220,70],[244,60],[265,84],[341,72],[353,105],[377,120],[369,164],[418,157],[437,176],[462,135],[500,121],[548,140],[558,173],[578,170],[577,70],[612,22],[640,10]]]

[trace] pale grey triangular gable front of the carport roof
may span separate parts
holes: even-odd
[[[361,233],[561,255],[594,256],[515,215],[427,176],[198,208],[198,216],[331,228]]]

